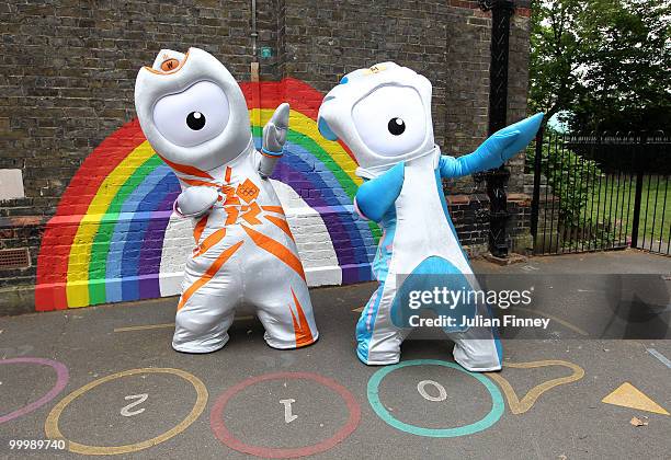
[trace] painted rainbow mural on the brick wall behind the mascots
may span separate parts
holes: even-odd
[[[377,227],[357,219],[352,199],[361,180],[339,142],[317,129],[323,95],[284,79],[242,83],[255,142],[282,102],[292,106],[285,156],[273,179],[288,184],[328,230],[342,284],[371,279]],[[37,311],[157,298],[172,204],[180,185],[156,156],[139,123],[107,137],[83,161],[47,223],[37,261]]]

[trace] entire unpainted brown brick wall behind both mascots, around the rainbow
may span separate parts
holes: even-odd
[[[435,137],[445,152],[468,152],[485,139],[490,15],[477,2],[257,3],[258,48],[272,48],[260,61],[262,80],[291,77],[326,92],[343,73],[395,60],[432,81]],[[519,3],[511,27],[511,122],[526,112],[528,10]],[[1,2],[0,24],[0,169],[22,170],[25,188],[25,198],[0,202],[0,249],[29,246],[32,258],[27,268],[0,272],[0,289],[8,290],[34,281],[44,226],[82,161],[135,117],[138,66],[159,48],[194,45],[248,81],[252,38],[250,2],[237,0]],[[522,161],[511,163],[512,194],[523,192]],[[447,191],[478,192],[470,179]],[[487,202],[468,203],[473,220],[460,221],[456,207],[455,225],[477,253],[488,227],[476,211]],[[511,229],[524,229],[527,212],[515,206]]]

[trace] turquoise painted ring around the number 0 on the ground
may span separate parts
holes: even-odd
[[[482,383],[491,396],[491,411],[481,419],[471,423],[470,425],[457,426],[454,428],[424,428],[417,425],[410,425],[405,422],[395,418],[389,411],[379,401],[379,383],[390,372],[409,366],[443,366],[457,369],[465,372],[477,381]],[[386,424],[391,425],[396,429],[401,432],[410,433],[417,436],[425,436],[431,438],[454,438],[458,436],[473,435],[474,433],[481,432],[489,428],[501,418],[505,404],[503,403],[503,396],[499,388],[491,382],[487,377],[481,373],[469,372],[457,364],[441,361],[437,359],[414,359],[411,361],[399,363],[395,366],[388,366],[379,369],[368,380],[368,402],[373,406],[373,410]]]

